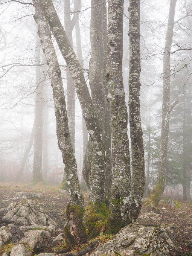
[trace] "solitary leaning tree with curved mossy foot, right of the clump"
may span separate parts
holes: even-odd
[[[173,28],[175,18],[175,6],[177,0],[171,0],[169,7],[168,29],[165,38],[165,50],[163,53],[163,104],[162,104],[162,128],[160,137],[160,147],[158,155],[158,176],[157,184],[151,191],[151,194],[146,201],[149,207],[157,207],[160,197],[165,189],[165,174],[166,174],[166,158],[169,136],[169,101],[170,101],[170,51],[173,39]]]

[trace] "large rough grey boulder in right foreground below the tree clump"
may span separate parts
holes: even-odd
[[[162,238],[165,234],[168,238]],[[115,256],[115,255],[150,255],[150,256],[167,256],[169,254],[168,244],[170,245],[171,235],[163,227],[142,226],[130,224],[120,230],[113,240],[109,240],[104,245],[99,245],[90,256]],[[172,246],[172,245],[171,245]]]

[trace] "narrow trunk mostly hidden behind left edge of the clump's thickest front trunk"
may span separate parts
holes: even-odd
[[[103,66],[103,83],[105,89],[105,126],[104,126],[104,136],[106,144],[106,154],[107,154],[107,165],[106,165],[106,174],[105,174],[105,190],[107,201],[110,195],[111,184],[113,180],[112,174],[112,156],[111,156],[111,109],[110,109],[110,99],[108,96],[108,85],[105,79],[105,74],[107,71],[107,6],[106,3],[103,4],[103,41],[104,41],[104,66]],[[105,200],[106,201],[106,200]]]

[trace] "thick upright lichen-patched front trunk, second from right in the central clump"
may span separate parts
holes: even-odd
[[[107,229],[117,233],[130,222],[131,175],[127,135],[128,114],[122,77],[123,0],[108,1],[107,29],[108,98],[111,105],[113,183]]]

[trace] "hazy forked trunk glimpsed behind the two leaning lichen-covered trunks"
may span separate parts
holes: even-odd
[[[64,24],[66,29],[67,38],[71,46],[73,47],[73,28],[75,26],[76,20],[79,17],[79,11],[81,5],[75,1],[75,8],[73,18],[71,20],[71,9],[70,9],[70,0],[64,0]],[[73,84],[73,79],[71,77],[70,71],[67,67],[66,69],[66,81],[67,81],[67,117],[69,123],[69,131],[73,145],[73,151],[75,152],[75,87]],[[63,176],[61,189],[66,189],[66,177]]]

